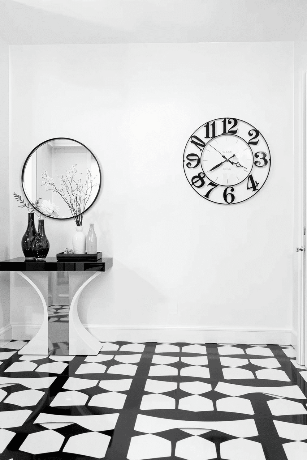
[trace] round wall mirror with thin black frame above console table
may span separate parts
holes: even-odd
[[[53,203],[58,217],[49,216],[52,219],[83,215],[101,186],[95,156],[70,138],[53,138],[37,145],[24,162],[21,179],[23,192],[34,207],[39,206],[39,200]]]

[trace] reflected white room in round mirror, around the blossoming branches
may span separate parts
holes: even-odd
[[[61,190],[64,179],[70,181],[71,174],[68,173],[74,168],[75,174],[73,180],[75,184],[84,183],[88,174],[91,174],[93,179],[91,188],[88,190],[85,197],[84,212],[92,206],[96,200],[101,186],[101,172],[98,161],[95,156],[84,144],[70,138],[53,138],[37,145],[29,154],[24,162],[22,171],[22,186],[23,192],[30,203],[34,204],[39,198],[49,200],[59,207],[59,217],[51,217],[51,219],[72,219],[70,207],[65,203],[64,199],[51,187],[46,187],[43,184],[43,174],[54,180],[55,187]],[[74,183],[73,188],[76,190],[78,186]],[[49,190],[47,190],[49,188]],[[85,187],[83,188],[85,190]],[[65,191],[65,190],[64,190]],[[66,196],[69,194],[66,191]],[[78,215],[78,213],[75,213]]]

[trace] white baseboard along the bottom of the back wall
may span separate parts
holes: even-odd
[[[85,324],[87,330],[102,342],[187,342],[229,344],[291,345],[291,331],[278,329],[217,329],[182,326],[102,326]],[[12,323],[13,339],[31,339],[40,325]]]

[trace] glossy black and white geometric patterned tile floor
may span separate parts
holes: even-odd
[[[1,460],[307,459],[307,370],[288,345],[0,349]]]

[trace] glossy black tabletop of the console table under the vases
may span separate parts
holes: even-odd
[[[56,257],[46,257],[44,261],[25,260],[24,257],[2,260],[1,271],[106,271],[113,265],[112,257],[102,257],[97,261],[63,261]]]

